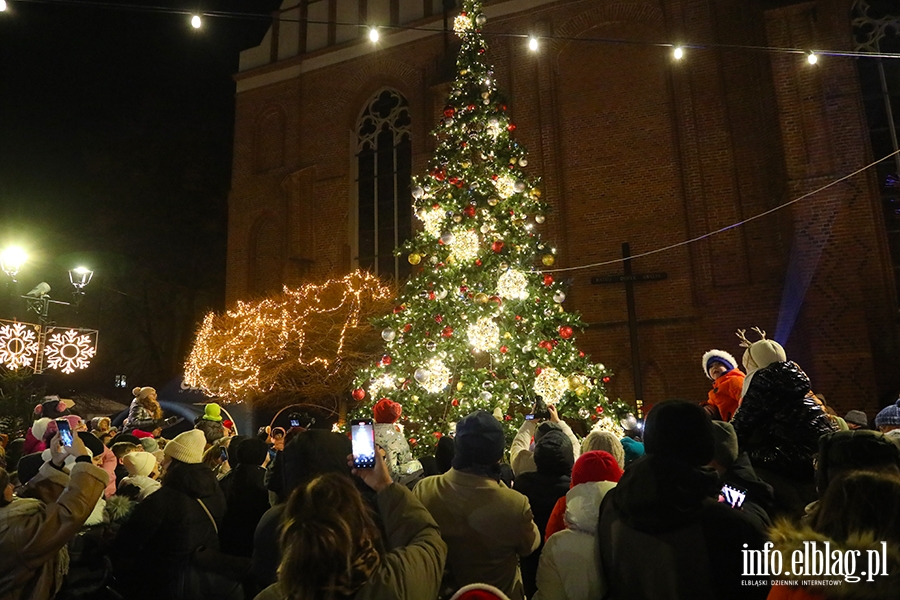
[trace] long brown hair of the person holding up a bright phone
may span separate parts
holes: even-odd
[[[296,489],[284,519],[278,582],[287,598],[350,596],[381,564],[378,526],[345,475],[321,475]]]

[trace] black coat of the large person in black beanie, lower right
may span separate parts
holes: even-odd
[[[756,599],[768,586],[742,585],[744,548],[765,537],[739,510],[711,498],[715,471],[664,456],[634,461],[600,505],[597,540],[604,599]],[[746,544],[746,546],[745,546]]]

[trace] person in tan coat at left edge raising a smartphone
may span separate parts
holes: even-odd
[[[50,441],[51,460],[33,475],[15,498],[4,486],[0,500],[0,598],[49,599],[62,584],[62,549],[81,530],[103,494],[109,475],[91,464],[78,436],[64,446]],[[75,464],[63,471],[67,456]],[[21,469],[20,469],[21,471]],[[9,481],[0,468],[0,482]]]

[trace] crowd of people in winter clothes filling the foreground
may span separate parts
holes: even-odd
[[[118,428],[47,397],[0,437],[0,600],[897,597],[900,400],[840,417],[757,332],[624,436],[548,406],[507,446],[475,411],[415,458],[382,400],[373,468],[305,414],[243,436],[208,404],[166,439],[153,388]],[[861,558],[797,571],[810,543]]]

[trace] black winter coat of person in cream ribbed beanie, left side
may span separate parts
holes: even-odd
[[[225,497],[209,467],[173,463],[162,487],[134,508],[113,548],[125,597],[193,600],[182,594],[191,555],[201,546],[219,549],[216,529],[197,499],[220,525]]]

